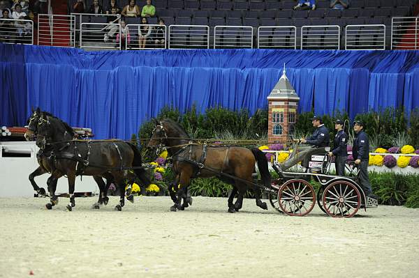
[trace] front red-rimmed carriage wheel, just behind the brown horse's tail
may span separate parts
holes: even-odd
[[[278,192],[279,206],[287,215],[304,216],[316,204],[316,192],[306,180],[288,180]]]

